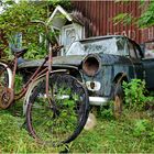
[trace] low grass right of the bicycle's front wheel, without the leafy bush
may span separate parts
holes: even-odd
[[[72,144],[76,153],[153,153],[154,122],[146,112],[124,111],[120,120],[98,117],[92,131]]]

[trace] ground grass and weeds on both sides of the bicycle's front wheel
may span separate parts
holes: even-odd
[[[151,107],[154,107],[153,97],[145,97],[143,95],[146,92],[144,89],[145,84],[139,79],[134,79],[130,84],[124,82],[123,87],[125,87],[127,101],[121,118],[119,120],[113,118],[112,108],[97,108],[97,112],[95,112],[97,127],[90,131],[84,130],[81,134],[68,145],[69,152],[154,152],[152,144],[154,142],[153,110],[145,110],[150,103]],[[138,90],[135,90],[136,88]],[[0,110],[0,128],[1,153],[53,153],[65,148],[53,148],[48,145],[40,145],[34,142],[26,132],[24,117],[22,117],[22,101],[15,103],[9,110]]]

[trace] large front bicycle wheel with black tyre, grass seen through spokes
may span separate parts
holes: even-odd
[[[42,143],[54,146],[69,143],[81,132],[88,118],[87,89],[69,75],[52,74],[47,98],[45,84],[45,77],[40,79],[28,98],[28,129]]]

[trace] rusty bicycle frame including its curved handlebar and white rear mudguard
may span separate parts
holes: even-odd
[[[50,26],[48,26],[48,24],[46,24],[45,22],[42,22],[42,21],[34,21],[34,23],[35,22],[45,25],[45,34],[46,34],[47,44],[48,44],[48,56],[46,56],[44,58],[44,62],[42,63],[42,65],[37,67],[37,69],[35,70],[35,73],[30,77],[30,79],[26,81],[26,84],[24,84],[23,88],[21,88],[20,92],[18,92],[18,94],[14,94],[14,91],[15,91],[14,90],[14,81],[15,81],[15,74],[16,74],[16,68],[18,68],[18,58],[21,55],[24,54],[24,53],[22,53],[23,51],[16,52],[14,54],[14,59],[11,63],[9,63],[8,65],[6,63],[4,64],[2,63],[3,66],[4,66],[4,69],[7,69],[7,70],[9,69],[9,73],[12,72],[9,75],[9,87],[6,87],[4,88],[6,89],[4,94],[7,94],[7,90],[8,90],[9,91],[9,96],[7,96],[7,97],[10,97],[11,98],[9,100],[9,103],[8,105],[11,105],[13,100],[21,99],[26,94],[26,91],[28,91],[29,86],[31,85],[31,82],[35,81],[38,77],[44,76],[44,75],[46,76],[46,96],[48,98],[48,80],[50,80],[50,74],[52,72],[52,62],[53,62],[52,53],[53,53],[53,51],[56,51],[56,52],[59,51],[62,46],[52,46],[53,45],[52,37],[48,35],[48,33],[50,33]],[[54,47],[56,50],[54,50]],[[48,62],[48,65],[47,66],[45,66],[46,62]],[[12,70],[10,69],[11,66],[13,66],[13,69]],[[50,100],[50,98],[48,98],[48,103],[52,103],[51,100]]]

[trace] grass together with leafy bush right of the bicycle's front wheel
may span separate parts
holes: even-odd
[[[110,108],[99,108],[98,124],[84,131],[70,145],[72,152],[84,153],[153,153],[154,98],[145,97],[145,82],[133,79],[123,82],[125,105],[122,116],[116,120]],[[151,105],[151,106],[150,106]],[[151,107],[151,109],[148,108]],[[148,110],[146,110],[148,109]]]

